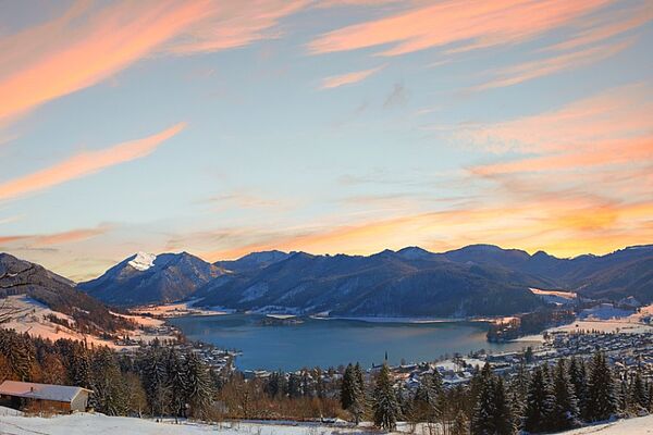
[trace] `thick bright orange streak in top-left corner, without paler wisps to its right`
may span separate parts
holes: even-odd
[[[206,1],[76,2],[64,15],[2,39],[0,120],[97,84],[207,14]]]

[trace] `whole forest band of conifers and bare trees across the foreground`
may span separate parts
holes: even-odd
[[[653,383],[638,370],[617,374],[599,351],[587,360],[522,365],[505,376],[485,364],[468,384],[453,387],[430,370],[409,390],[386,364],[370,372],[348,364],[246,380],[238,371],[213,370],[178,343],[155,340],[116,353],[1,330],[0,382],[7,378],[93,389],[89,406],[109,415],[208,422],[337,417],[385,430],[397,421],[420,423],[443,435],[551,433],[653,410]]]

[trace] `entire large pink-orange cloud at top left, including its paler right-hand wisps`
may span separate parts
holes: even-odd
[[[305,1],[75,1],[61,16],[0,39],[0,121],[163,53],[241,47]]]

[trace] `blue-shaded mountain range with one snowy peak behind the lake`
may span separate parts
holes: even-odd
[[[213,264],[185,252],[138,253],[78,284],[121,306],[192,298],[204,307],[348,316],[513,314],[544,303],[530,287],[651,302],[653,246],[574,259],[492,245],[372,256],[264,251]]]

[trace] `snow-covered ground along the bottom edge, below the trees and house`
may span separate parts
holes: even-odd
[[[109,435],[109,434],[141,434],[141,435],[201,435],[220,433],[224,435],[371,435],[380,432],[370,428],[355,428],[343,426],[326,426],[319,424],[299,424],[292,422],[279,423],[217,423],[196,424],[172,422],[157,423],[151,420],[134,419],[127,417],[107,417],[102,414],[76,413],[53,418],[21,417],[11,412],[2,412],[0,408],[0,434],[4,435]],[[426,427],[417,432],[409,432],[407,425],[402,424],[399,432],[393,434],[417,435],[427,434]],[[653,434],[653,415],[639,419],[619,420],[615,423],[600,424],[580,430],[564,432],[565,435],[650,435]]]

